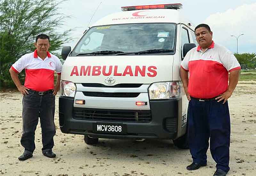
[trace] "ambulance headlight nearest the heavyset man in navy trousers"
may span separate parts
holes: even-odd
[[[149,99],[177,99],[181,97],[181,82],[159,82],[154,83],[148,88]]]

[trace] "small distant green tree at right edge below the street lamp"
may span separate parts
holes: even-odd
[[[234,54],[242,69],[256,67],[256,53]]]

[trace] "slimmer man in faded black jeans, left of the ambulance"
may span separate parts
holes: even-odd
[[[42,128],[42,153],[53,158],[55,135],[54,113],[55,95],[60,89],[61,62],[57,56],[50,54],[50,38],[40,34],[36,36],[36,50],[23,55],[10,68],[12,80],[23,94],[22,99],[22,137],[21,145],[25,148],[19,160],[33,156],[35,146],[35,130],[40,117]],[[25,68],[25,84],[22,85],[18,74]],[[54,72],[57,72],[57,83],[54,86]]]

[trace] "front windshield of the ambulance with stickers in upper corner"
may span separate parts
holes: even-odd
[[[76,55],[116,54],[120,52],[140,52],[175,50],[177,25],[173,23],[140,23],[98,26],[90,28],[72,52]],[[103,52],[102,52],[103,51]],[[148,52],[147,54],[150,54]]]

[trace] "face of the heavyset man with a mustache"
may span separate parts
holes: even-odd
[[[208,31],[206,28],[197,28],[195,31],[196,41],[201,48],[206,49],[212,44],[212,31]]]

